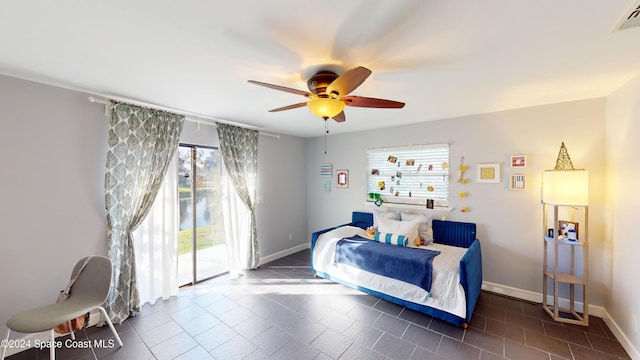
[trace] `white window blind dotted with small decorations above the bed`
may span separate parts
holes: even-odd
[[[367,193],[385,202],[436,206],[449,202],[449,144],[370,149]],[[373,201],[373,200],[371,200]]]

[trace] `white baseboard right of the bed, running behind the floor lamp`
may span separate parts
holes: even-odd
[[[495,284],[488,281],[482,282],[482,289],[491,291],[497,294],[511,296],[518,299],[542,303],[542,297],[543,297],[542,294],[529,291],[529,290],[523,290],[523,289],[511,287],[511,286]],[[552,302],[553,302],[553,297],[547,296],[547,304],[550,304]],[[565,308],[569,307],[569,299],[564,299],[564,298],[559,299],[559,303],[561,307],[565,307]],[[577,311],[581,312],[583,309],[583,304],[576,302],[576,309]],[[618,324],[615,322],[615,320],[613,320],[611,315],[609,315],[609,313],[604,307],[590,304],[589,314],[602,318],[602,320],[604,320],[604,322],[609,327],[609,330],[611,330],[611,332],[616,337],[616,339],[618,339],[622,347],[624,347],[624,349],[627,351],[629,356],[631,356],[632,359],[640,360],[640,352],[638,352],[638,349],[636,349],[633,343],[631,343],[627,335],[622,331],[622,329],[620,329],[620,326],[618,326]]]

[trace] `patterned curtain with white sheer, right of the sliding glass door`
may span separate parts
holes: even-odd
[[[234,259],[239,259],[239,267],[255,269],[260,266],[258,249],[258,231],[256,229],[256,182],[258,173],[258,132],[233,125],[217,124],[220,139],[220,153],[224,161],[227,175],[242,203],[249,212],[248,229],[238,229],[246,226],[246,222],[239,219],[238,212],[225,212],[225,233],[227,245],[231,252],[229,265],[231,276],[237,276],[234,269]],[[227,204],[223,209],[233,208],[233,201],[225,199]],[[240,209],[241,210],[241,209]],[[236,227],[236,228],[233,228]],[[243,231],[243,230],[248,230]]]

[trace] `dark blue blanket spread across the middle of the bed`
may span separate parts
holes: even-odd
[[[417,285],[431,296],[431,264],[440,251],[383,244],[359,235],[336,245],[335,262]]]

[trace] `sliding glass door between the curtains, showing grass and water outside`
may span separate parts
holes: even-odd
[[[217,148],[181,144],[178,163],[178,281],[195,284],[229,271]]]

